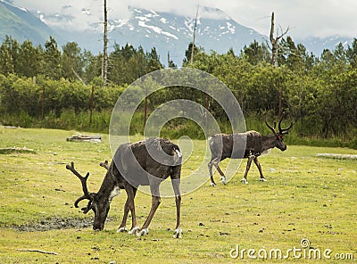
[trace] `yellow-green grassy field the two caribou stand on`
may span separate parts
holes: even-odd
[[[98,164],[110,160],[111,153],[107,135],[102,144],[66,142],[73,134],[0,128],[0,148],[36,151],[0,154],[0,263],[306,262],[309,254],[314,258],[319,252],[322,263],[357,259],[357,161],[315,157],[357,151],[295,145],[285,153],[273,150],[261,158],[265,183],[255,167],[249,185],[240,183],[245,161],[227,186],[216,172],[218,186],[207,182],[182,197],[182,239],[172,238],[172,198],[162,199],[149,235],[138,238],[116,233],[125,193],[113,200],[102,232],[92,231],[93,212],[84,215],[74,208],[80,183],[65,164],[74,161],[80,172],[90,171],[88,188],[96,192],[104,177]],[[194,142],[195,155],[183,165],[183,177],[205,150],[204,141]],[[202,177],[208,180],[208,171]],[[151,197],[139,192],[136,205],[143,224]],[[303,239],[310,247],[303,247]]]

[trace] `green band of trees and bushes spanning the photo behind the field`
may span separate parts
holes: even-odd
[[[115,44],[109,54],[109,85],[103,87],[102,56],[82,50],[76,43],[60,49],[53,37],[44,46],[34,46],[29,40],[20,44],[5,37],[0,46],[0,122],[16,125],[13,120],[20,120],[14,115],[24,115],[33,123],[44,119],[44,115],[64,122],[63,113],[68,117],[69,112],[78,115],[88,111],[91,87],[95,87],[95,111],[109,112],[131,82],[164,67],[154,47],[145,52],[141,46]],[[190,44],[182,67],[204,70],[220,78],[237,97],[248,120],[262,120],[265,112],[278,115],[280,103],[296,123],[296,136],[356,141],[356,38],[351,45],[336,45],[320,56],[308,53],[302,44],[295,45],[291,37],[281,38],[278,65],[270,64],[270,56],[269,45],[256,41],[245,45],[239,54],[233,49],[226,54],[206,52]],[[170,60],[167,63],[166,67],[177,67]],[[172,87],[150,95],[149,111],[178,97],[206,106],[205,96],[199,92]],[[220,107],[212,100],[209,105],[212,114],[222,119]],[[224,123],[224,118],[221,121]]]

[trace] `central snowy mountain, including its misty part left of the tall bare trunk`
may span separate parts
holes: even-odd
[[[89,10],[85,12],[91,15]],[[109,19],[109,42],[112,45],[141,45],[145,50],[155,47],[161,55],[162,62],[166,62],[167,54],[170,53],[171,60],[180,65],[188,44],[193,41],[195,13],[193,17],[185,17],[135,7],[129,7],[129,13],[127,19]],[[58,15],[50,17],[44,13],[37,14],[45,22],[59,20]],[[68,18],[62,18],[62,21],[71,23]],[[95,52],[102,51],[103,23],[91,23],[90,29],[85,29],[81,34],[73,30],[73,27],[63,27],[58,23],[52,28],[63,37],[67,37],[68,41],[78,42],[83,48]],[[254,39],[262,42],[264,36],[238,24],[220,9],[200,7],[196,21],[195,45],[202,46],[206,52],[214,50],[217,53],[226,53],[229,48],[233,48],[239,53],[244,45],[249,45]]]

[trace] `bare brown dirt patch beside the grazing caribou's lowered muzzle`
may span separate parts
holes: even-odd
[[[107,219],[107,222],[111,219]],[[51,218],[41,220],[39,223],[31,223],[28,225],[14,225],[13,229],[21,232],[48,231],[54,229],[80,229],[92,227],[93,219],[76,219],[76,218]]]

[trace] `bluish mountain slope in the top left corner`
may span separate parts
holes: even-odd
[[[33,44],[45,44],[49,36],[60,38],[33,13],[0,0],[0,40],[11,36],[22,43],[29,39]]]

